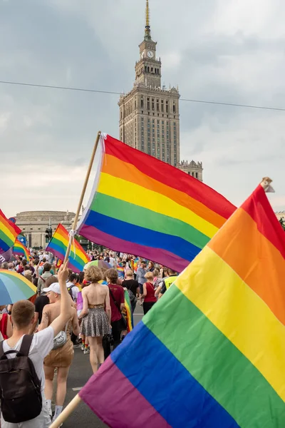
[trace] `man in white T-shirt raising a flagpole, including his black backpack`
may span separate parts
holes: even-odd
[[[48,428],[51,424],[44,397],[43,360],[72,315],[67,278],[67,265],[62,265],[58,272],[61,313],[41,332],[28,335],[34,322],[31,302],[20,300],[13,306],[13,335],[0,344],[1,428]]]

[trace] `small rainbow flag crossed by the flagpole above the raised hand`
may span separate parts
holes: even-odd
[[[48,246],[46,247],[46,251],[50,251],[57,258],[64,260],[68,243],[68,231],[63,227],[63,225],[59,224],[55,233],[53,233],[53,238],[51,238]],[[83,267],[86,263],[90,262],[90,259],[76,239],[74,240],[74,243],[76,248],[71,245],[68,267],[73,270],[73,272],[83,272]]]

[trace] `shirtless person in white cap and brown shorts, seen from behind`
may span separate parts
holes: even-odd
[[[46,293],[49,305],[43,307],[43,315],[41,324],[38,327],[39,331],[45,330],[61,313],[61,287],[58,282],[53,282],[49,287],[43,288]],[[69,299],[71,306],[71,299]],[[66,343],[51,350],[44,360],[44,372],[46,378],[45,394],[48,403],[48,410],[51,414],[51,399],[53,397],[53,377],[57,369],[57,387],[56,387],[56,410],[53,416],[53,421],[56,420],[63,409],[63,403],[66,398],[66,382],[68,372],[73,361],[73,343],[71,342],[71,328],[76,335],[79,335],[78,317],[75,307],[71,307],[71,316],[66,320],[66,325],[63,331],[66,332]]]

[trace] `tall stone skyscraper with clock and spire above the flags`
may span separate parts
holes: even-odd
[[[202,163],[180,161],[180,94],[178,88],[161,86],[161,61],[151,38],[146,1],[145,38],[135,63],[135,83],[119,101],[120,140],[202,180]]]

